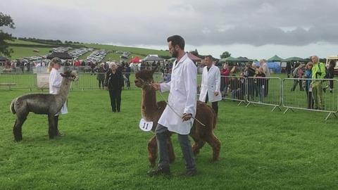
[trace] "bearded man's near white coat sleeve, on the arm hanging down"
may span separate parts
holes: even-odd
[[[196,115],[196,95],[197,95],[197,68],[190,62],[184,70],[184,86],[187,94],[187,101],[184,106],[184,113]]]

